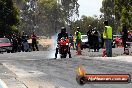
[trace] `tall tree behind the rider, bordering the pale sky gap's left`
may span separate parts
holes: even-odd
[[[77,0],[39,0],[39,11],[45,16],[48,30],[57,32],[61,26],[71,25],[71,17],[78,14]],[[50,26],[49,26],[50,25]]]

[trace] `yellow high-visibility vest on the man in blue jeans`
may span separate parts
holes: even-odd
[[[111,26],[105,26],[105,30],[103,32],[103,38],[104,39],[112,39],[112,27]],[[106,37],[107,33],[107,37]]]

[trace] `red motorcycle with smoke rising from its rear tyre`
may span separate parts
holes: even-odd
[[[57,58],[58,53],[61,55],[61,58],[66,58],[67,54],[69,54],[69,58],[71,58],[69,39],[63,37],[58,41],[55,58]]]

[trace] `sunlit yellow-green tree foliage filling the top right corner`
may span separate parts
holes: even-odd
[[[132,28],[132,0],[115,0],[114,4],[119,30],[121,31],[123,24],[130,30]]]

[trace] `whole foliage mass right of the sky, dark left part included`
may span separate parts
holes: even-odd
[[[128,29],[132,29],[132,0],[103,0],[100,11],[104,19],[107,19],[114,31],[119,32],[122,24],[126,24]]]

